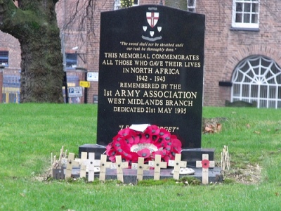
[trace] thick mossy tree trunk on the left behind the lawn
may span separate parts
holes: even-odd
[[[63,103],[63,55],[55,0],[0,1],[0,30],[20,41],[20,103]]]

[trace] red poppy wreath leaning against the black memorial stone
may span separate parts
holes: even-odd
[[[132,162],[138,162],[138,157],[148,162],[154,160],[155,155],[161,155],[162,160],[168,163],[175,159],[176,153],[181,153],[181,141],[157,125],[148,126],[144,132],[129,127],[122,129],[106,146],[106,154],[112,162],[116,161],[116,155],[121,155],[129,166]]]

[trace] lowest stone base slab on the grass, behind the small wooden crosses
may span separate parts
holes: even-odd
[[[194,177],[196,179],[199,179],[202,181],[202,168],[192,168],[195,170],[195,174],[191,175],[180,175],[181,177]],[[168,179],[168,178],[173,178],[173,174],[171,174],[171,171],[173,168],[169,169],[162,169],[160,173],[160,179]],[[59,170],[54,170],[54,171],[59,171]],[[54,172],[53,172],[54,173]],[[65,173],[65,169],[64,169]],[[79,178],[80,175],[80,170],[79,168],[74,168],[72,169],[72,177],[74,178]],[[86,177],[88,177],[88,174],[86,174]],[[124,184],[136,184],[137,183],[137,170],[132,170],[132,169],[124,169],[123,170],[123,178],[124,178]],[[154,170],[148,170],[148,171],[143,171],[143,180],[145,179],[153,179],[154,177]],[[95,178],[99,178],[99,174],[95,174]],[[63,178],[55,178],[54,179],[63,179]],[[107,169],[105,172],[105,180],[116,180],[117,179],[117,170],[111,170]],[[209,183],[210,182],[221,182],[223,181],[223,176],[221,174],[221,168],[220,167],[214,167],[212,169],[209,169]]]

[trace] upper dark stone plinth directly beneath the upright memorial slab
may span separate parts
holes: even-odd
[[[95,153],[95,159],[100,160],[100,155],[105,153],[105,146],[98,144],[84,144],[79,146],[79,158],[81,152]],[[214,148],[189,148],[181,152],[181,160],[188,162],[188,167],[196,167],[196,161],[202,160],[203,154],[209,155],[209,160],[214,160]]]

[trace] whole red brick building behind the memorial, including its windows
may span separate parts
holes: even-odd
[[[79,28],[78,21],[63,29],[72,11],[71,1],[59,1],[58,24],[67,74],[78,75],[81,80],[84,72],[77,72],[75,67],[98,72],[100,12],[117,9],[119,1],[96,0],[91,18],[93,30],[89,25]],[[165,4],[160,0],[135,1],[138,5],[160,3]],[[204,106],[256,101],[259,108],[281,108],[280,8],[280,0],[188,1],[188,11],[206,15]],[[4,72],[20,70],[19,44],[2,32],[0,60],[6,66]],[[88,102],[92,103],[97,94],[98,82],[91,82]]]

